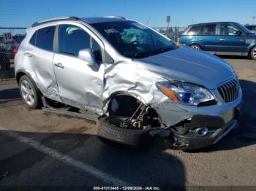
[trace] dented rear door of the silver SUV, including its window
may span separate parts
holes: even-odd
[[[58,86],[53,71],[53,38],[56,26],[48,26],[37,30],[24,50],[26,70],[36,82],[42,94],[60,101]]]

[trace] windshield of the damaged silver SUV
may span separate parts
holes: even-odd
[[[134,21],[97,23],[93,26],[121,55],[128,58],[145,58],[177,48],[172,41]]]

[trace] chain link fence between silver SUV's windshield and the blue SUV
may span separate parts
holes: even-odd
[[[172,39],[174,42],[178,42],[178,37],[185,31],[187,27],[152,27],[154,30],[165,35],[169,39]]]

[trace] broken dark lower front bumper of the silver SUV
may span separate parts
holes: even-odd
[[[236,128],[238,118],[244,109],[245,101],[241,100],[235,108],[235,114],[230,122],[219,116],[194,115],[189,123],[183,124],[183,128],[172,128],[176,146],[181,149],[200,149],[216,144],[220,139],[227,135],[233,128]],[[199,130],[207,132],[199,133]]]

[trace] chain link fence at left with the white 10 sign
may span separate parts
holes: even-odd
[[[13,58],[26,34],[26,28],[0,27],[0,80],[14,77]]]

